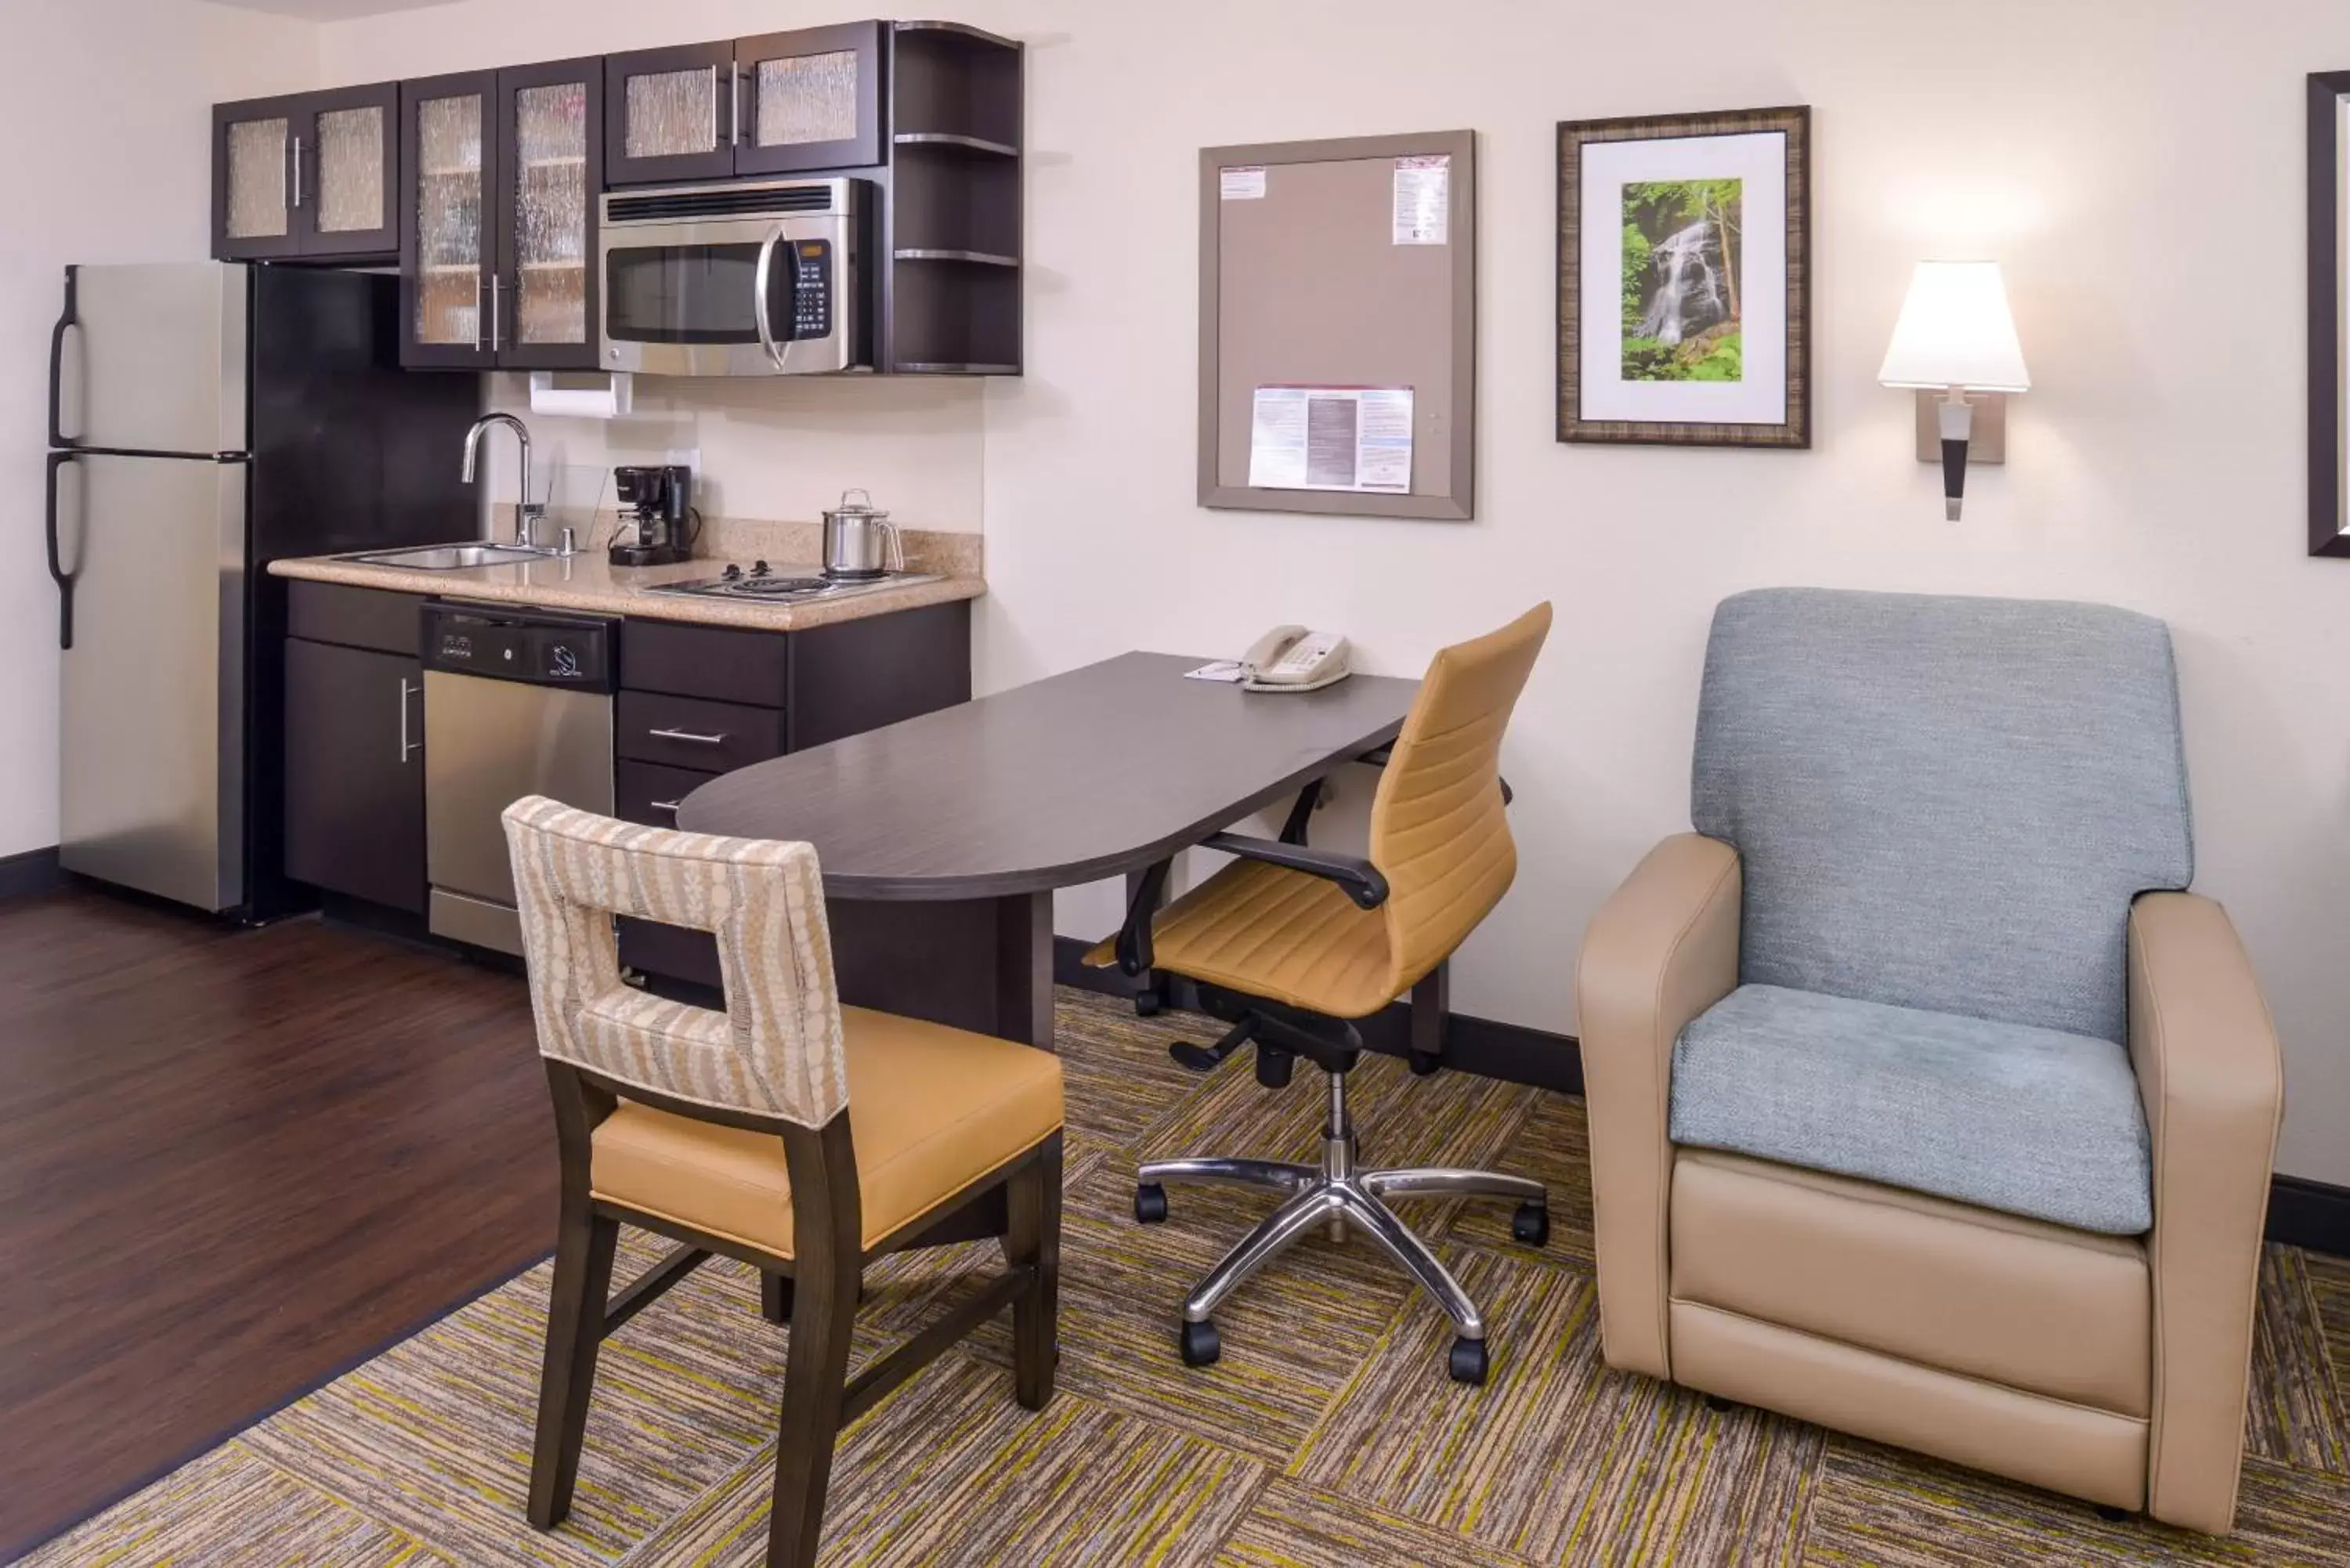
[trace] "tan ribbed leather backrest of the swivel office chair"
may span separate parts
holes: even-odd
[[[1476,931],[1518,875],[1502,809],[1502,731],[1551,635],[1551,607],[1436,654],[1370,804],[1401,994]]]

